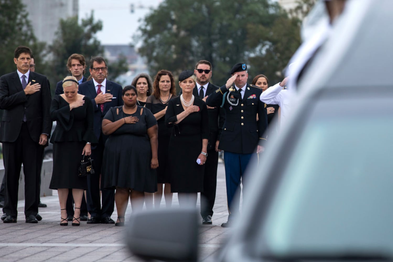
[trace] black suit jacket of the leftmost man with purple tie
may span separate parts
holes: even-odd
[[[52,121],[49,114],[51,95],[48,79],[44,75],[30,71],[27,82],[39,83],[40,91],[26,95],[17,71],[0,77],[0,109],[4,109],[0,142],[17,140],[25,114],[33,141],[38,143],[41,134],[48,134],[48,138],[50,137]]]

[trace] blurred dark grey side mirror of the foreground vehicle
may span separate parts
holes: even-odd
[[[162,209],[133,214],[126,236],[129,250],[145,260],[197,261],[196,209]]]

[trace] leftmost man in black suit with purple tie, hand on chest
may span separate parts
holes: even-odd
[[[6,176],[4,223],[17,222],[18,182],[23,163],[26,223],[37,223],[39,176],[44,145],[51,131],[48,79],[29,70],[31,49],[15,49],[17,71],[0,77],[0,127]]]

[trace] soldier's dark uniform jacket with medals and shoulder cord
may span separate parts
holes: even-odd
[[[225,85],[209,95],[206,104],[217,107],[222,105],[226,113],[219,149],[238,154],[251,154],[256,152],[255,148],[261,139],[266,140],[264,132],[268,121],[266,104],[259,100],[261,93],[261,88],[247,84],[243,99],[236,90],[229,94]],[[231,105],[228,100],[234,105]]]

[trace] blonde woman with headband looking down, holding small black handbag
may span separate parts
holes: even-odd
[[[57,189],[61,209],[60,225],[68,225],[66,202],[72,189],[75,212],[72,225],[79,225],[83,191],[87,189],[86,176],[78,176],[78,164],[83,155],[92,153],[91,143],[97,143],[93,132],[94,108],[90,98],[78,94],[75,77],[63,80],[64,94],[53,97],[50,115],[56,121],[50,142],[53,143],[53,172],[50,189]]]

